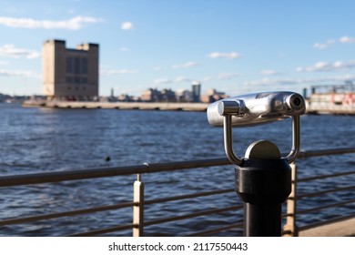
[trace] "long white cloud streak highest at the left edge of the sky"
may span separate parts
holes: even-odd
[[[32,18],[15,18],[0,16],[0,24],[16,28],[45,28],[78,30],[84,24],[98,23],[101,19],[92,16],[75,16],[67,20],[35,20]]]

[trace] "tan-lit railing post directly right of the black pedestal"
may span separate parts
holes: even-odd
[[[292,186],[291,193],[289,194],[289,198],[287,199],[287,218],[286,225],[284,226],[284,231],[286,237],[297,237],[299,236],[299,230],[297,228],[297,212],[296,212],[296,204],[297,204],[297,165],[295,163],[289,164],[291,167],[292,173]]]

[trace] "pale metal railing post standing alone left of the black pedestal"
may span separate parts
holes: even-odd
[[[144,184],[140,174],[133,185],[133,237],[143,237],[144,225]]]

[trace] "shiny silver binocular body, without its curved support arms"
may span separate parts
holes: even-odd
[[[228,97],[208,106],[208,123],[222,127],[232,116],[233,127],[250,127],[304,114],[305,100],[295,92],[276,91]]]

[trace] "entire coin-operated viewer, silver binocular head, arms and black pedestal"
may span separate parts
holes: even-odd
[[[228,97],[208,106],[208,122],[224,128],[224,147],[236,166],[235,187],[245,203],[244,231],[247,237],[280,236],[281,205],[291,190],[291,169],[299,153],[299,116],[304,114],[304,98],[288,91],[264,92]],[[292,148],[281,157],[270,141],[252,143],[244,158],[233,150],[232,128],[267,124],[292,117]]]

